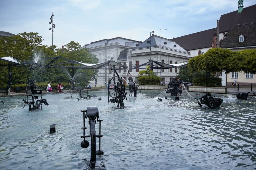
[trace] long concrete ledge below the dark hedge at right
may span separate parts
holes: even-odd
[[[206,92],[206,93],[227,93],[227,87],[202,87],[202,86],[189,86],[189,91]]]

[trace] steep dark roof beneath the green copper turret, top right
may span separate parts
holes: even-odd
[[[256,22],[256,5],[243,8],[241,13],[237,11],[221,15],[219,20],[219,32],[227,32],[238,24]]]

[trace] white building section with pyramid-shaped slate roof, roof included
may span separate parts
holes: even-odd
[[[131,55],[131,57],[128,57],[128,60],[125,59],[125,54],[120,54],[118,62],[126,66],[129,64],[130,68],[134,68],[150,60],[167,64],[179,64],[191,58],[190,53],[176,42],[164,37],[161,37],[160,40],[160,37],[154,34],[133,48],[131,52],[132,53],[130,53],[130,51],[126,53],[128,56]],[[130,70],[133,80],[137,81],[138,74],[141,70],[143,69],[138,68]],[[173,77],[176,77],[177,72],[177,68],[154,70],[157,76],[161,76],[162,82],[169,82]],[[125,80],[127,79],[126,70],[120,70],[120,74]]]

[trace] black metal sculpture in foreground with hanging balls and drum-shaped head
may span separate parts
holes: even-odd
[[[81,138],[83,138],[83,141],[81,142],[81,147],[82,148],[88,148],[89,146],[89,142],[87,140],[85,140],[85,138],[91,138],[91,168],[95,169],[95,165],[96,165],[96,155],[103,155],[104,152],[101,150],[101,148],[99,148],[98,151],[96,151],[96,137],[100,138],[103,137],[103,135],[101,135],[101,122],[103,120],[99,120],[99,109],[96,106],[88,106],[87,110],[82,110],[83,112],[83,127],[81,128],[83,130],[83,136],[81,136]],[[86,114],[85,114],[86,112]],[[89,118],[89,125],[90,125],[90,135],[86,136],[85,135],[85,130],[87,129],[85,127],[85,119]],[[96,124],[96,118],[97,118],[97,122],[100,122],[100,134],[96,135],[96,130],[95,130],[95,124]],[[101,140],[100,140],[101,143]]]

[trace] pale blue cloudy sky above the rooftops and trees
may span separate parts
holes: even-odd
[[[244,8],[256,0],[244,0]],[[217,27],[221,15],[238,9],[238,0],[0,0],[0,31],[37,32],[43,45],[82,46],[114,37],[145,41],[154,30],[165,38]]]

